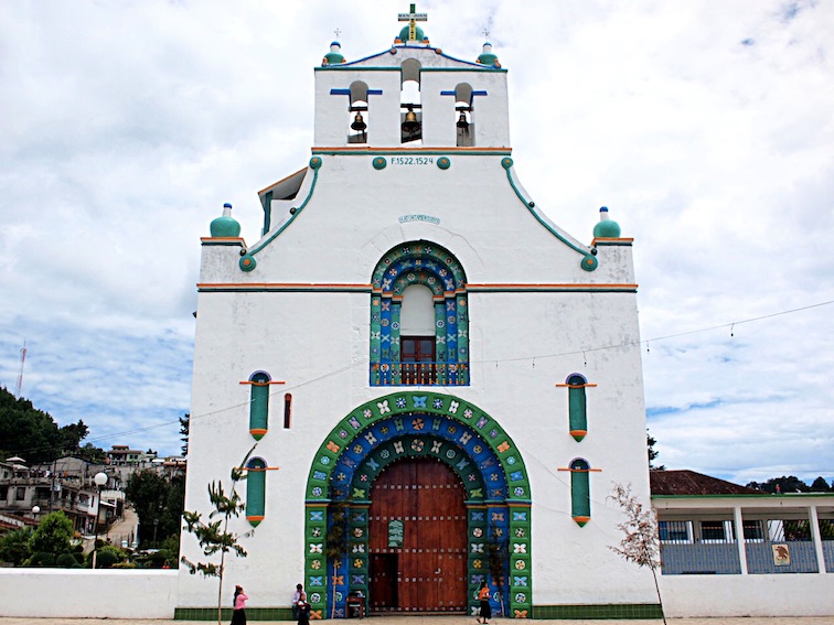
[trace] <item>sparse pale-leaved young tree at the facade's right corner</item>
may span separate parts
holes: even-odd
[[[627,561],[634,562],[638,567],[651,569],[663,625],[666,625],[666,615],[663,614],[663,600],[660,594],[660,585],[657,585],[657,568],[661,564],[657,517],[651,507],[643,508],[643,504],[640,503],[637,495],[631,494],[630,485],[614,484],[612,494],[608,498],[613,499],[626,515],[626,520],[617,524],[617,529],[622,530],[626,536],[620,541],[619,547],[609,547],[609,549],[622,556]]]

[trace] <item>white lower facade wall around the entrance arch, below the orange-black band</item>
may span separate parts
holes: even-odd
[[[190,454],[188,509],[205,509],[205,484],[227,479],[253,444],[249,387],[237,382],[267,370],[286,380],[293,397],[292,428],[284,430],[284,390],[272,387],[270,429],[256,454],[280,470],[267,474],[266,519],[245,540],[249,557],[228,563],[229,581],[250,590],[253,606],[287,605],[284,589],[302,579],[303,484],[313,453],[355,406],[394,390],[367,385],[368,299],[364,293],[200,294],[195,370],[201,374],[193,389],[191,442],[203,453]],[[634,306],[633,293],[470,295],[473,382],[447,390],[499,419],[524,455],[534,499],[533,590],[539,604],[652,601],[651,578],[607,549],[619,540],[620,513],[606,500],[611,483],[630,482],[648,498],[644,409],[642,395],[633,391],[642,386],[639,349],[581,354],[589,340],[637,341]],[[588,326],[595,328],[591,338]],[[524,355],[531,357],[512,360]],[[599,384],[587,391],[589,434],[581,444],[568,434],[567,389],[555,386],[575,371]],[[558,471],[577,456],[601,470],[591,474],[594,518],[585,528],[570,518],[569,474]],[[233,527],[248,530],[243,519]],[[193,539],[183,537],[183,548],[197,557]],[[608,590],[601,595],[603,576]],[[200,578],[183,574],[180,605],[206,605],[211,592]]]

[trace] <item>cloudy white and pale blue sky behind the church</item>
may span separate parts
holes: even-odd
[[[303,166],[334,31],[408,2],[0,0],[0,385],[88,441],[177,453],[200,237]],[[834,478],[834,3],[418,2],[510,71],[516,172],[589,243],[634,237],[660,462]],[[594,346],[589,346],[592,348]]]

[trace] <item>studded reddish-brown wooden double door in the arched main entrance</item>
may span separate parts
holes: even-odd
[[[368,511],[372,612],[466,612],[464,493],[455,472],[435,460],[403,460],[376,478]]]

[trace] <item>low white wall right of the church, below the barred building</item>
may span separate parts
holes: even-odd
[[[659,575],[666,616],[831,616],[834,574]]]

